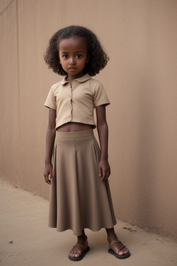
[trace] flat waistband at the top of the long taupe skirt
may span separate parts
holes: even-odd
[[[93,135],[93,130],[74,131],[74,132],[60,132],[56,131],[56,139],[77,139],[84,136]]]

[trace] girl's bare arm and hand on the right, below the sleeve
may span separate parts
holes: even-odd
[[[108,162],[108,125],[106,122],[105,105],[96,107],[97,115],[97,132],[100,140],[101,157],[98,166],[99,176],[101,180],[105,180],[111,174],[111,169]]]

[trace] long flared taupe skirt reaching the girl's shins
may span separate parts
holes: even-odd
[[[93,130],[56,132],[49,227],[99,231],[116,224],[109,181],[98,175],[100,147]]]

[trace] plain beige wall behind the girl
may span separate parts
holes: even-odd
[[[176,237],[177,1],[1,0],[0,176],[48,198],[48,111],[61,80],[43,60],[71,24],[97,34],[111,60],[97,78],[111,100],[110,178],[117,218]]]

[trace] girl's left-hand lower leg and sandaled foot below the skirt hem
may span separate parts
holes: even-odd
[[[77,244],[69,252],[68,258],[70,260],[82,260],[89,249],[90,248],[88,247],[87,236],[83,230],[82,235],[77,236]]]

